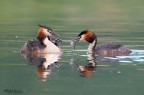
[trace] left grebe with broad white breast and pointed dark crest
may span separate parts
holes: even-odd
[[[39,25],[37,39],[25,43],[21,53],[61,53],[60,43],[61,40],[56,38],[56,33],[51,28]]]

